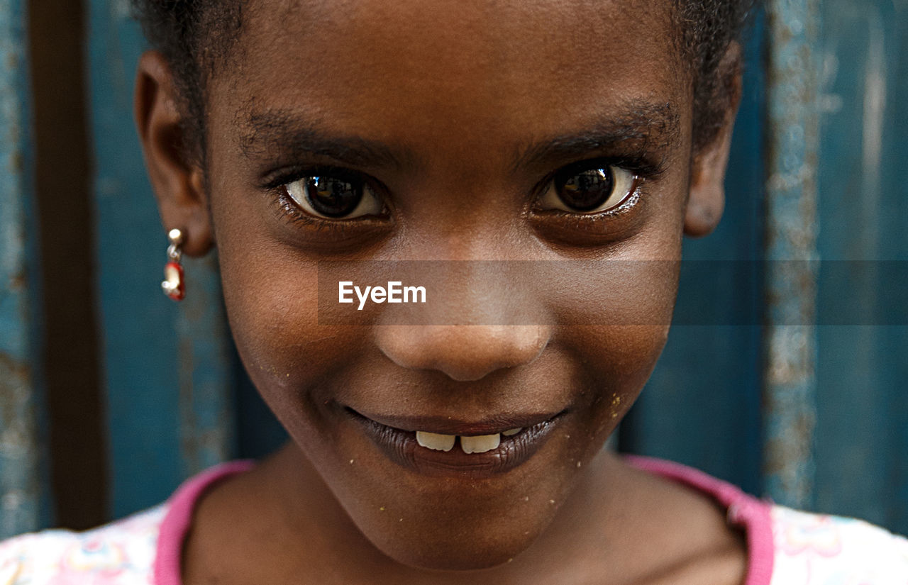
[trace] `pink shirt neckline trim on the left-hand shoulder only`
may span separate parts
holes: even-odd
[[[183,541],[192,524],[192,512],[202,493],[225,477],[249,471],[252,461],[222,463],[183,483],[171,497],[170,509],[161,522],[154,557],[155,585],[183,585]]]

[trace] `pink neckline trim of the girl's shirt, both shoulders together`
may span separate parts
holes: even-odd
[[[731,483],[697,471],[680,463],[628,455],[627,463],[637,469],[683,483],[698,492],[713,497],[728,509],[728,522],[745,529],[747,538],[747,577],[745,585],[769,585],[773,575],[775,549],[773,545],[771,504],[747,495]],[[170,509],[161,522],[157,554],[154,559],[155,585],[182,585],[183,541],[192,523],[192,512],[202,493],[236,473],[249,471],[252,461],[222,463],[183,483],[170,502]]]

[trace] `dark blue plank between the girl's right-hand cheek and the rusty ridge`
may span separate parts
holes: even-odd
[[[693,465],[749,492],[761,488],[764,161],[754,145],[763,142],[763,27],[758,12],[745,44],[745,91],[725,180],[724,217],[715,233],[685,241],[686,261],[716,261],[734,278],[707,281],[682,270],[676,314],[684,314],[686,325],[672,327],[619,438],[622,451]]]

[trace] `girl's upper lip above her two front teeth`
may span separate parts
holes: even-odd
[[[352,408],[350,408],[350,411],[376,423],[400,429],[401,431],[423,431],[437,434],[456,434],[459,436],[496,434],[510,429],[526,428],[546,423],[564,412],[506,414],[491,416],[482,420],[467,421],[457,416],[404,416],[399,414],[363,413]]]

